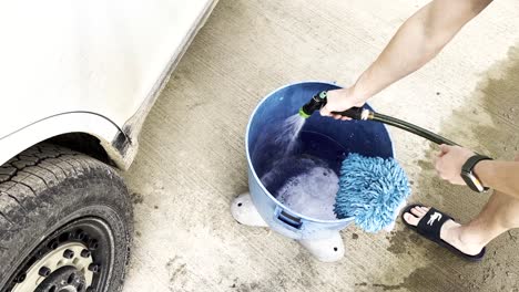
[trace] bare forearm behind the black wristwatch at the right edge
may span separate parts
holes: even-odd
[[[484,186],[519,198],[519,161],[481,160],[474,173]]]

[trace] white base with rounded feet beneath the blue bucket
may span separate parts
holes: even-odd
[[[237,196],[231,204],[231,213],[242,225],[268,227],[257,212],[248,192]],[[344,258],[344,241],[337,231],[326,239],[297,240],[312,255],[323,262],[334,262]]]

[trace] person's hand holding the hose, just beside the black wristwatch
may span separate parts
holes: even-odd
[[[441,144],[441,153],[435,159],[438,176],[454,185],[466,185],[461,178],[461,167],[475,153],[459,146]]]

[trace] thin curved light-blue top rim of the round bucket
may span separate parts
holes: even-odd
[[[289,86],[294,86],[294,85],[299,85],[299,84],[305,84],[305,83],[320,83],[320,84],[326,84],[326,85],[333,85],[333,86],[336,86],[336,87],[339,87],[339,88],[344,88],[344,86],[340,86],[338,84],[336,84],[335,82],[327,82],[327,81],[316,81],[316,80],[308,80],[308,81],[299,81],[299,82],[294,82],[294,83],[289,83],[289,84],[286,84],[284,86],[281,86],[281,87],[277,87],[273,91],[271,91],[267,95],[265,95],[265,97],[263,97],[257,104],[256,104],[256,107],[254,107],[254,111],[252,112],[250,118],[248,118],[248,123],[247,123],[247,128],[246,128],[246,132],[245,132],[245,152],[246,152],[246,155],[247,155],[247,165],[248,165],[248,169],[251,170],[252,175],[254,176],[254,179],[256,179],[256,181],[258,182],[260,187],[262,188],[262,190],[279,207],[282,207],[283,209],[287,209],[291,213],[293,213],[294,216],[297,216],[299,217],[301,219],[304,219],[304,220],[307,220],[307,221],[312,221],[312,222],[318,222],[318,223],[346,223],[346,222],[350,222],[353,220],[355,220],[355,217],[347,217],[347,218],[343,218],[343,219],[336,219],[336,220],[325,220],[325,219],[318,219],[318,218],[313,218],[313,217],[308,217],[308,216],[305,216],[303,213],[299,213],[299,212],[296,212],[294,210],[292,210],[291,208],[286,207],[285,205],[283,205],[281,201],[278,201],[266,188],[265,186],[262,184],[262,180],[260,179],[260,177],[257,176],[256,174],[256,170],[254,169],[253,167],[253,164],[252,164],[252,158],[251,158],[251,153],[248,150],[248,134],[250,134],[250,131],[251,131],[251,125],[252,125],[252,121],[256,114],[256,112],[258,111],[260,106],[267,100],[273,94],[275,94],[276,92],[281,91],[281,90],[284,90],[286,87],[289,87]],[[369,103],[366,103],[369,105]],[[370,106],[370,105],[369,105]],[[372,106],[370,106],[372,107]],[[373,107],[372,107],[373,108]],[[395,157],[395,146],[393,145],[393,137],[389,133],[389,131],[387,131],[387,127],[386,125],[384,125],[384,129],[386,131],[387,135],[389,136],[389,140],[391,142],[391,153],[393,153],[393,158],[396,158]]]

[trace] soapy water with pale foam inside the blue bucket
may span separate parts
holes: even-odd
[[[302,131],[298,115],[263,133],[254,152],[262,184],[285,207],[304,216],[335,220],[338,173],[346,157],[334,139]]]

